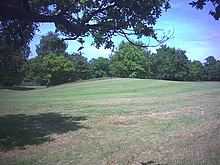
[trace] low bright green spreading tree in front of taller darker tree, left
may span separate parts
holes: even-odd
[[[40,85],[58,85],[72,81],[73,62],[66,56],[49,54],[28,61],[26,81]]]

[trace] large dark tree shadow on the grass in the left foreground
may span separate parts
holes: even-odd
[[[86,117],[66,116],[59,113],[0,117],[0,150],[24,149],[26,145],[52,141],[53,133],[63,134],[86,128],[81,125],[82,120],[86,120]]]

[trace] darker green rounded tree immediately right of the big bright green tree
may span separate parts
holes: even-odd
[[[152,56],[153,77],[166,80],[186,80],[188,58],[186,51],[162,45]]]

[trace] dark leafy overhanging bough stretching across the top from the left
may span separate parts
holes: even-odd
[[[168,0],[3,0],[0,21],[22,20],[32,25],[52,22],[67,39],[90,35],[96,47],[110,48],[115,35],[128,40],[131,35],[146,36],[159,44],[165,42],[169,37],[158,38],[153,26],[169,8]],[[29,31],[34,33],[35,29]]]

